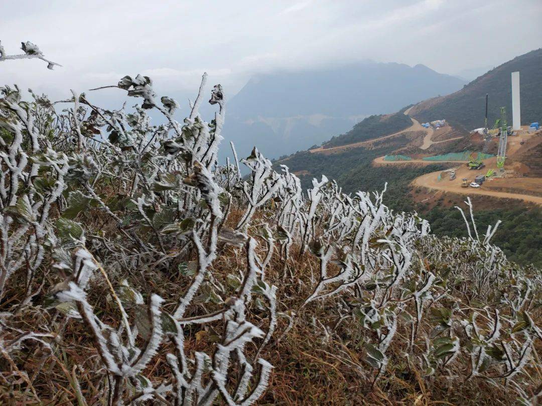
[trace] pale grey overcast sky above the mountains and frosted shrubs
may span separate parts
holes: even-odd
[[[208,71],[232,95],[257,73],[366,59],[456,74],[541,47],[541,18],[541,0],[0,0],[7,53],[31,41],[63,65],[0,62],[0,84],[63,97],[143,73],[175,97]]]

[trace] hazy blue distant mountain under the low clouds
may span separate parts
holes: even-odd
[[[258,145],[277,158],[342,134],[360,118],[397,111],[465,83],[422,64],[372,61],[257,75],[229,101],[224,136],[241,156]]]

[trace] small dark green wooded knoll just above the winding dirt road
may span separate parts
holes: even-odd
[[[405,109],[394,114],[372,115],[357,123],[349,132],[333,136],[324,144],[324,148],[349,145],[354,142],[366,141],[376,137],[395,134],[412,125],[409,116],[404,115]]]

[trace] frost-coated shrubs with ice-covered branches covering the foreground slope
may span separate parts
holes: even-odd
[[[303,191],[256,148],[238,161],[232,145],[233,162],[220,166],[225,102],[215,86],[215,116],[203,119],[206,80],[182,122],[177,101],[158,97],[146,76],[115,86],[141,101],[130,111],[73,91],[53,103],[0,88],[0,349],[8,379],[19,379],[29,397],[47,397],[33,387],[35,374],[17,366],[18,353],[37,343],[43,366],[60,356],[63,329],[80,324],[93,339],[85,345],[95,350],[96,379],[80,382],[83,367],[71,361],[79,404],[92,393],[115,405],[249,405],[270,384],[270,348],[299,325],[312,325],[314,340],[342,340],[349,320],[365,363],[345,362],[369,385],[397,374],[392,363],[401,362],[428,382],[484,379],[536,402],[540,388],[526,369],[542,338],[533,321],[540,274],[491,245],[498,225],[481,235],[469,207],[469,238],[437,238],[415,213],[387,208],[385,191],[347,195],[325,176]],[[164,123],[154,125],[149,109]],[[244,178],[240,163],[250,170]],[[156,273],[171,282],[150,283]],[[288,307],[285,286],[307,292],[299,306]],[[107,313],[95,309],[102,295]],[[15,326],[30,308],[56,315],[62,329]],[[197,344],[202,335],[209,345]]]

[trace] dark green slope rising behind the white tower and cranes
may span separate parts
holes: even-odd
[[[489,93],[488,119],[492,126],[499,119],[500,107],[506,107],[507,119],[512,123],[511,73],[520,73],[521,124],[542,121],[542,48],[488,71],[461,90],[448,96],[424,101],[411,110],[418,120],[446,119],[466,130],[483,127],[486,93]]]

